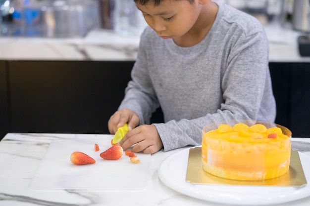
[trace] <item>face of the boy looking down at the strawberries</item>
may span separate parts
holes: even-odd
[[[164,0],[158,6],[154,3],[141,5],[136,3],[138,9],[155,32],[163,39],[174,39],[185,35],[196,23],[201,10],[201,3],[208,0]]]

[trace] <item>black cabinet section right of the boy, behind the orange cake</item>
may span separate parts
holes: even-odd
[[[310,63],[270,63],[277,103],[275,123],[294,137],[310,137]]]

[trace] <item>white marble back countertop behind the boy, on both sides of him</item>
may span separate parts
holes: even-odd
[[[265,25],[270,62],[310,62],[301,57],[300,32],[278,24]],[[135,61],[139,36],[120,36],[112,30],[94,30],[83,38],[0,37],[0,60]]]

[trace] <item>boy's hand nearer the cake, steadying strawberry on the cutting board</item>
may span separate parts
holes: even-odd
[[[145,154],[153,154],[163,147],[156,127],[148,124],[140,125],[128,131],[120,140],[119,144],[123,150],[126,150],[136,144],[132,148],[132,151],[143,151]]]

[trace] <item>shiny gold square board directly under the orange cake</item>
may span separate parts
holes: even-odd
[[[186,181],[193,184],[212,185],[249,185],[249,186],[295,186],[307,184],[303,166],[298,151],[291,151],[290,168],[284,175],[262,181],[239,181],[216,177],[202,168],[201,147],[191,148],[189,151]]]

